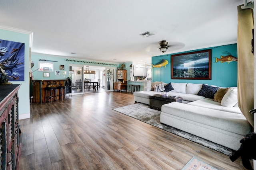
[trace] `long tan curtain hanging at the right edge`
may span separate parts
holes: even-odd
[[[241,6],[237,7],[238,107],[254,127],[254,117],[249,112],[254,108],[254,55],[251,48],[254,18],[252,9],[242,10]]]

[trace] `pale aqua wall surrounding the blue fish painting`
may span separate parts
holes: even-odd
[[[0,29],[0,39],[25,43],[25,63],[24,80],[15,81],[12,84],[21,84],[19,90],[19,115],[30,114],[30,96],[29,96],[29,35]],[[6,85],[7,86],[7,85]],[[21,117],[21,116],[20,116]]]

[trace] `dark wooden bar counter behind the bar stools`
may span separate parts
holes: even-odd
[[[49,84],[58,84],[60,86],[65,86],[65,80],[32,80],[33,84],[33,103],[45,103],[45,88]],[[57,94],[58,96],[59,94]],[[58,97],[57,97],[58,100]]]

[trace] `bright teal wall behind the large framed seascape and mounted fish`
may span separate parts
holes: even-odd
[[[212,80],[182,80],[171,79],[171,55],[168,54],[152,57],[152,64],[159,63],[162,59],[166,59],[169,63],[166,68],[153,68],[152,69],[152,81],[169,82],[187,82],[187,83],[204,83],[208,85],[216,85],[221,87],[233,87],[237,86],[237,62],[216,63],[216,58],[220,56],[226,56],[224,51],[228,51],[232,56],[237,57],[237,44],[222,45],[218,47],[207,48],[212,49]],[[198,49],[193,51],[201,51],[205,49]],[[192,51],[184,51],[182,53],[188,53]]]

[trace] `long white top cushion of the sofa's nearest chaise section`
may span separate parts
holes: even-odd
[[[250,125],[242,114],[208,109],[178,102],[162,105],[161,114],[163,112],[241,135],[248,133],[250,130]]]

